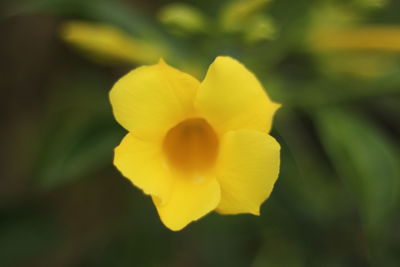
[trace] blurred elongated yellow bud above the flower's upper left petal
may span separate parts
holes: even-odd
[[[165,52],[159,46],[133,38],[109,24],[70,21],[60,30],[61,38],[97,62],[148,64]]]

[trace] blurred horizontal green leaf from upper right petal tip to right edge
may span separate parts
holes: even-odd
[[[277,76],[270,74],[268,81],[265,81],[274,99],[287,106],[310,109],[374,100],[377,97],[395,97],[400,92],[400,71],[386,73],[379,79],[359,79],[340,75],[331,77],[322,76],[320,73],[318,77],[304,80],[307,65],[301,69],[301,65],[292,64],[291,68],[287,73],[281,71]],[[297,76],[291,73],[296,72],[303,75],[303,80],[295,80]]]

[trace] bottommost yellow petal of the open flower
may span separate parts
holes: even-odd
[[[166,204],[153,197],[161,221],[169,229],[179,231],[214,210],[220,201],[220,189],[215,179],[203,181],[176,179]]]

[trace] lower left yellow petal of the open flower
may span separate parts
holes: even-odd
[[[146,194],[168,199],[171,179],[160,144],[143,141],[128,133],[115,148],[114,165]]]

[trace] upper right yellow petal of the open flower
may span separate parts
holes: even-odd
[[[280,105],[268,98],[257,78],[242,64],[230,57],[218,57],[199,87],[195,106],[223,133],[269,131]]]

